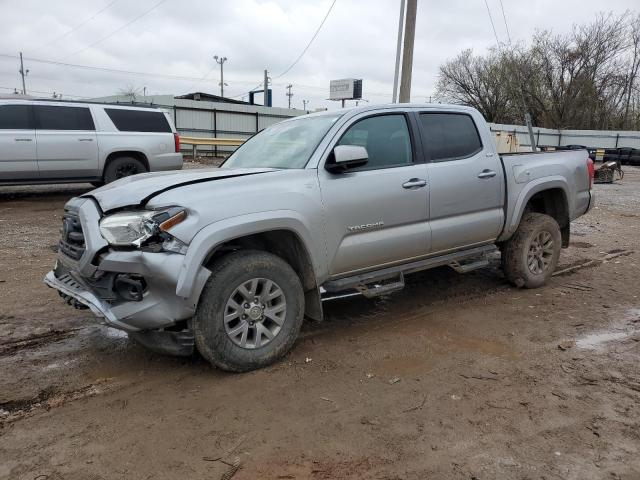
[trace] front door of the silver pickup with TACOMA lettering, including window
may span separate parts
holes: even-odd
[[[403,113],[355,120],[336,145],[367,149],[367,165],[318,175],[325,208],[329,272],[342,276],[428,254],[427,166]]]

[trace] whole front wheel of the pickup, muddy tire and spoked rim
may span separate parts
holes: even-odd
[[[196,347],[222,370],[272,364],[293,346],[304,318],[298,275],[280,257],[242,250],[219,259],[193,319]]]

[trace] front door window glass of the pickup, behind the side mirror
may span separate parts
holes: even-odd
[[[359,145],[367,149],[369,161],[356,170],[399,167],[413,162],[411,137],[404,115],[378,115],[353,124],[338,145]]]

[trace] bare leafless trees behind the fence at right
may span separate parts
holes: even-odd
[[[631,20],[630,20],[631,18]],[[640,128],[640,15],[599,14],[569,34],[536,33],[528,47],[470,50],[440,68],[438,96],[489,121],[551,128]]]

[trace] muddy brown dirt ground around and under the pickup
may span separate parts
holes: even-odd
[[[416,274],[326,302],[242,375],[147,352],[43,285],[88,188],[0,188],[0,478],[640,478],[640,169],[596,185],[545,287],[497,259]]]

